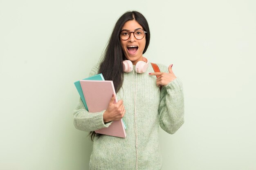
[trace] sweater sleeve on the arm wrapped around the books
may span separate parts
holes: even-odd
[[[97,74],[98,70],[99,70],[99,64],[97,64],[92,68],[92,71],[90,72],[89,76]],[[83,130],[83,131],[94,131],[101,128],[107,128],[108,126],[110,126],[112,121],[106,124],[104,123],[103,113],[105,111],[106,110],[102,110],[101,112],[97,112],[97,113],[89,113],[85,109],[83,101],[80,98],[73,113],[74,126],[77,129]]]

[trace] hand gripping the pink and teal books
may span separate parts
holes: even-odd
[[[123,100],[119,100],[116,104],[114,104],[116,96],[113,94],[110,102],[108,104],[107,110],[103,113],[103,121],[104,123],[114,120],[120,120],[124,117],[126,110],[124,109]]]

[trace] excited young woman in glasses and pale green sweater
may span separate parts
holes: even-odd
[[[90,131],[94,141],[90,170],[160,170],[159,125],[173,134],[184,123],[182,82],[173,64],[157,64],[161,72],[154,72],[143,56],[149,40],[146,18],[128,11],[117,20],[103,60],[92,68],[90,76],[102,73],[113,81],[117,96],[99,113],[85,110],[81,99],[74,110],[74,126]],[[115,97],[121,100],[113,104]],[[94,132],[121,118],[126,138]]]

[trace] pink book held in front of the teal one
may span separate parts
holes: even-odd
[[[80,80],[80,84],[88,106],[88,111],[92,114],[106,110],[112,95],[116,94],[112,81]],[[117,97],[115,103],[117,103]],[[95,130],[95,132],[116,137],[126,137],[124,122],[122,119],[113,121],[108,128]]]

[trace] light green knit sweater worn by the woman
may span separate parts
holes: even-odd
[[[157,64],[161,72],[168,68]],[[133,68],[135,70],[135,66]],[[91,75],[98,74],[99,64],[92,68]],[[124,101],[126,114],[123,120],[126,124],[126,138],[101,135],[95,137],[90,170],[136,170],[136,155],[138,155],[138,170],[160,170],[162,157],[159,148],[159,126],[173,134],[184,123],[184,99],[182,82],[174,79],[163,86],[161,93],[156,85],[153,67],[148,65],[146,73],[124,73],[122,88],[117,93],[117,99]],[[104,76],[104,75],[103,75]],[[135,93],[137,89],[137,93]],[[137,121],[137,154],[135,136],[135,102]],[[112,122],[104,124],[103,113],[89,113],[80,98],[74,110],[74,126],[79,130],[94,131],[108,127]]]

